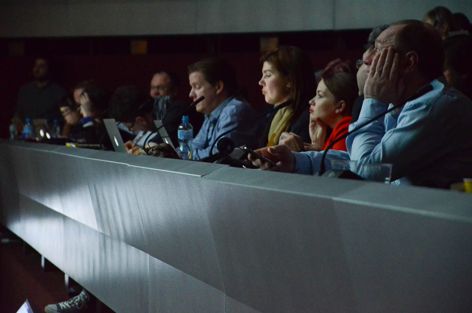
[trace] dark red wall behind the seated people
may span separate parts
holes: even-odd
[[[258,81],[261,78],[259,52],[222,53],[234,66],[236,75],[243,85],[248,101],[258,109],[265,102]],[[322,69],[335,58],[356,60],[362,56],[361,50],[337,50],[311,52],[315,70]],[[54,80],[70,90],[78,82],[94,78],[111,94],[123,85],[136,85],[143,90],[149,88],[152,74],[156,70],[173,70],[181,79],[179,97],[189,100],[187,66],[205,57],[203,53],[174,53],[153,55],[61,55],[50,57],[55,71]],[[0,56],[2,77],[0,84],[1,120],[0,136],[8,137],[9,120],[15,112],[18,89],[32,79],[33,56]],[[315,88],[315,87],[313,87]],[[189,101],[190,103],[190,101]]]

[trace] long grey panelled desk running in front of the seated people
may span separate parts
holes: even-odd
[[[1,222],[118,313],[472,312],[472,195],[0,143]]]

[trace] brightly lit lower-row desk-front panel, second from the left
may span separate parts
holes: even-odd
[[[64,216],[30,198],[20,196],[21,237],[58,267],[64,264]]]

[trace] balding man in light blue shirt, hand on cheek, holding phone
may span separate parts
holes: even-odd
[[[360,165],[392,163],[395,183],[447,188],[472,175],[470,121],[472,101],[438,79],[444,51],[434,28],[417,20],[394,23],[383,31],[364,59],[369,75],[358,125],[398,108],[346,139],[348,154],[329,151],[329,159],[352,159]],[[262,169],[314,174],[320,152],[292,153],[284,146],[257,152],[277,161],[254,160]]]

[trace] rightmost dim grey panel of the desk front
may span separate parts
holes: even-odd
[[[472,312],[472,223],[337,204],[359,312]]]

